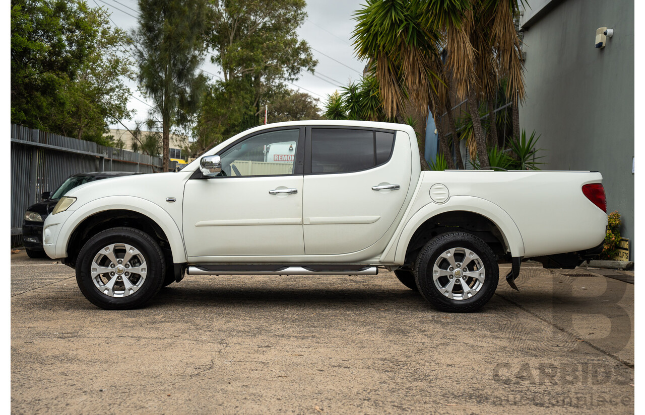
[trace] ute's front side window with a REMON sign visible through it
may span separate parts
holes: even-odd
[[[235,143],[224,151],[223,176],[293,174],[299,129],[270,131]]]

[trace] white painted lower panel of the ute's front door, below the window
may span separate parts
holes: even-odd
[[[303,176],[188,180],[184,199],[189,257],[304,254]]]

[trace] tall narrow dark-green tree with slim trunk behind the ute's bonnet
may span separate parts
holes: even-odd
[[[139,85],[161,116],[163,169],[170,170],[170,131],[197,111],[206,77],[207,9],[204,0],[139,0],[139,26],[132,33]]]

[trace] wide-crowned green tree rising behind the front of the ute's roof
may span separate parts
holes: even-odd
[[[264,104],[280,98],[285,82],[301,71],[313,73],[317,60],[297,28],[307,17],[304,0],[209,0],[207,44],[212,62],[222,68],[224,82],[244,82],[253,91],[248,102],[256,117]],[[239,89],[239,83],[226,86]]]

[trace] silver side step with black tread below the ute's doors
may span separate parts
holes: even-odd
[[[188,267],[188,275],[377,275],[379,269],[364,265],[220,265],[204,264]]]

